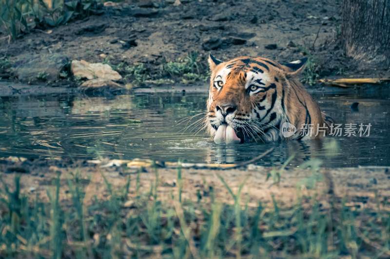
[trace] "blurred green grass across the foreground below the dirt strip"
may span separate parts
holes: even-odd
[[[318,163],[309,167],[315,168]],[[298,195],[294,204],[250,206],[244,199],[245,181],[232,189],[219,180],[234,203],[221,202],[210,191],[196,202],[177,192],[158,192],[157,169],[148,191],[141,192],[139,175],[114,188],[101,174],[104,195],[84,203],[85,183],[78,173],[47,191],[48,201],[1,181],[0,255],[2,258],[372,258],[390,255],[390,212],[346,201],[323,207],[318,197]],[[65,196],[62,194],[66,193]],[[130,195],[133,193],[134,195]],[[161,196],[164,195],[164,196]],[[199,192],[199,195],[202,195]],[[91,195],[90,195],[91,196]],[[65,199],[60,197],[65,197]],[[132,198],[133,197],[133,198]],[[244,202],[242,202],[244,201]]]

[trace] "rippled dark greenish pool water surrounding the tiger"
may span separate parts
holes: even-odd
[[[0,157],[152,158],[162,161],[236,163],[274,147],[259,165],[277,166],[295,154],[293,165],[320,158],[324,166],[390,164],[389,94],[316,94],[337,123],[370,123],[369,137],[216,145],[206,134],[178,123],[204,111],[206,94],[159,93],[86,97],[0,97]],[[359,102],[359,111],[351,103]],[[201,118],[201,116],[195,117]],[[141,123],[139,123],[141,122]],[[188,125],[195,122],[192,120]],[[331,139],[339,149],[329,156]]]

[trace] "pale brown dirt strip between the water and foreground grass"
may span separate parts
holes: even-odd
[[[184,199],[196,201],[207,199],[210,191],[220,202],[233,203],[232,196],[219,177],[237,193],[243,184],[241,199],[256,207],[259,202],[266,206],[273,206],[273,197],[281,206],[290,207],[297,199],[314,197],[321,201],[324,208],[329,207],[331,201],[341,203],[345,199],[346,205],[351,207],[390,210],[390,167],[362,167],[362,168],[322,168],[317,172],[310,169],[286,168],[278,171],[280,181],[273,180],[271,167],[253,166],[241,169],[211,170],[211,169],[182,169],[182,183],[179,183],[177,169],[147,167],[141,171],[126,166],[104,167],[94,165],[86,160],[20,160],[4,158],[0,160],[0,177],[11,186],[16,174],[21,176],[21,192],[30,195],[39,195],[47,200],[47,190],[52,188],[53,180],[60,174],[62,200],[68,200],[68,179],[79,174],[81,183],[85,187],[84,202],[89,204],[96,195],[104,199],[107,196],[107,186],[104,184],[104,175],[113,189],[120,189],[130,176],[130,197],[136,195],[136,185],[140,192],[148,192],[156,183],[158,176],[158,193],[163,200],[169,201],[172,194],[178,192],[182,185]],[[138,172],[140,172],[138,174]],[[267,175],[271,173],[270,179]],[[139,177],[139,184],[137,178]],[[164,199],[165,198],[165,199]],[[379,206],[379,207],[378,207]]]

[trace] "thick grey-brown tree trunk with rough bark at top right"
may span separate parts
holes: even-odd
[[[342,37],[347,56],[390,64],[390,0],[344,0]]]

